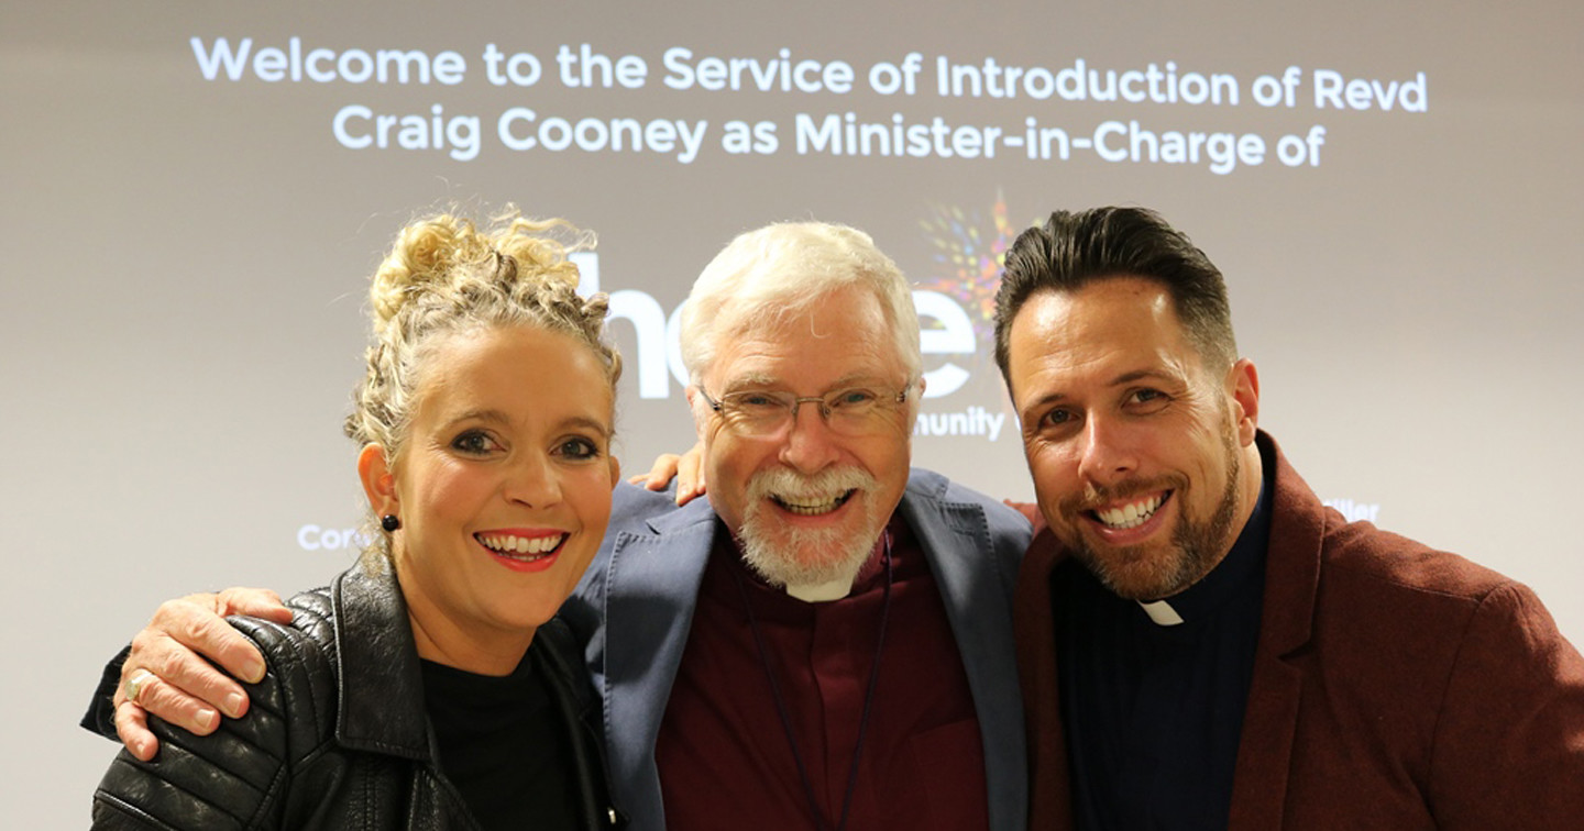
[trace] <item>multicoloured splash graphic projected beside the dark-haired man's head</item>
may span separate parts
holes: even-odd
[[[935,247],[933,282],[919,288],[939,291],[963,305],[980,343],[995,340],[995,291],[1001,282],[1006,250],[1022,228],[1006,218],[1006,196],[996,192],[987,218],[979,211],[935,204],[933,215],[920,220]]]

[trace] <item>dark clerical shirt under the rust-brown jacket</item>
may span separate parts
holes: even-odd
[[[1052,571],[1079,829],[1226,828],[1259,639],[1269,476],[1226,559],[1167,598],[1182,624],[1153,622],[1074,559]]]

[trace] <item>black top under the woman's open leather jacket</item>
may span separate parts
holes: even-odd
[[[534,663],[532,647],[508,676],[421,662],[440,771],[486,829],[577,828],[567,728]]]

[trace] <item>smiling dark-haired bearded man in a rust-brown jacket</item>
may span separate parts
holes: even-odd
[[[1584,660],[1527,587],[1348,524],[1256,427],[1221,274],[1142,209],[1006,255],[1041,829],[1579,828]]]

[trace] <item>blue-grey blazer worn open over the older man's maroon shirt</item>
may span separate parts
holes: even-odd
[[[706,499],[621,484],[610,530],[561,616],[588,644],[604,698],[615,803],[632,828],[661,831],[654,744],[692,627],[716,516]],[[914,469],[898,507],[930,562],[957,636],[985,752],[993,831],[1023,831],[1028,774],[1012,646],[1012,584],[1030,527],[1017,511]]]

